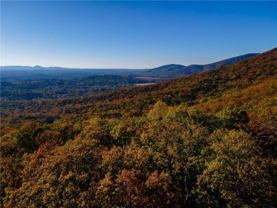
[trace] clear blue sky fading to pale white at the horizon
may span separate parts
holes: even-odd
[[[151,68],[277,46],[277,1],[1,1],[1,65]]]

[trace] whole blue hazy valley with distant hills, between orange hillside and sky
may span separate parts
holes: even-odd
[[[208,65],[164,65],[151,70],[97,70],[62,67],[1,67],[1,100],[58,99],[109,92],[126,87],[143,86],[173,77],[212,70],[250,58],[256,53],[240,55]]]

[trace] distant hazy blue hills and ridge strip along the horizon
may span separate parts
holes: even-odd
[[[240,55],[227,60],[221,60],[208,65],[163,65],[150,70],[130,70],[130,69],[78,69],[66,67],[34,67],[28,66],[1,66],[1,82],[18,82],[23,80],[50,80],[50,79],[74,79],[92,75],[124,75],[124,76],[149,76],[172,79],[183,77],[203,70],[212,70],[219,66],[229,65],[234,62],[245,60],[257,53]]]

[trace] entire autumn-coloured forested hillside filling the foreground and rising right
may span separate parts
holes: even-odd
[[[1,102],[2,207],[275,207],[277,48],[92,96]]]

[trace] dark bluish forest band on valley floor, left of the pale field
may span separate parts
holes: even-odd
[[[164,79],[158,77],[133,77],[124,75],[94,75],[79,79],[28,80],[1,82],[1,100],[58,99],[88,96],[116,89],[152,84]]]

